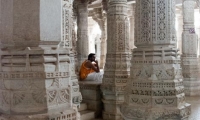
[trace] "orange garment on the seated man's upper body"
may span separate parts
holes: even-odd
[[[81,65],[81,69],[80,69],[80,80],[84,80],[88,74],[95,72],[92,68],[87,68],[85,67],[85,63],[87,62],[87,60],[85,60],[82,65]]]

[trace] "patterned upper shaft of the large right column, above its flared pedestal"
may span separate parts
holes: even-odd
[[[175,10],[164,7],[170,4],[175,6],[175,1],[145,0],[136,9],[135,45],[161,45],[175,44]],[[157,6],[157,7],[155,7]],[[166,11],[168,10],[168,11]],[[157,11],[157,12],[155,12]]]

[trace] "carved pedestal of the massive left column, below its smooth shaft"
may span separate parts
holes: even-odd
[[[72,79],[72,57],[62,48],[1,50],[0,112],[3,116],[13,119],[21,114],[47,116],[55,111],[67,116],[63,112],[68,109],[70,114],[76,114],[72,107],[80,103],[81,95],[77,79]]]

